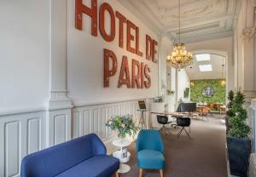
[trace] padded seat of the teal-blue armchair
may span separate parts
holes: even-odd
[[[138,168],[163,169],[165,157],[160,151],[142,150],[137,152]]]

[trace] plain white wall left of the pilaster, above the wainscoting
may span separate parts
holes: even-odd
[[[49,1],[0,1],[0,112],[49,99]]]

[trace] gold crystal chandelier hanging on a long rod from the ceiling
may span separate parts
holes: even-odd
[[[168,66],[177,68],[178,70],[189,66],[192,63],[192,54],[187,52],[185,44],[180,43],[180,0],[178,0],[178,43],[172,49],[172,55],[167,56],[166,63]]]

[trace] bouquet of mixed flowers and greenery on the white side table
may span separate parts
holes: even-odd
[[[113,130],[117,130],[118,137],[122,140],[125,139],[125,136],[127,134],[134,137],[139,130],[139,127],[132,120],[131,115],[113,116],[108,120],[106,126],[110,127]]]

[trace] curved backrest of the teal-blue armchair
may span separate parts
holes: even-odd
[[[164,144],[160,133],[154,129],[142,129],[137,136],[136,149],[137,151],[150,149],[163,153]]]

